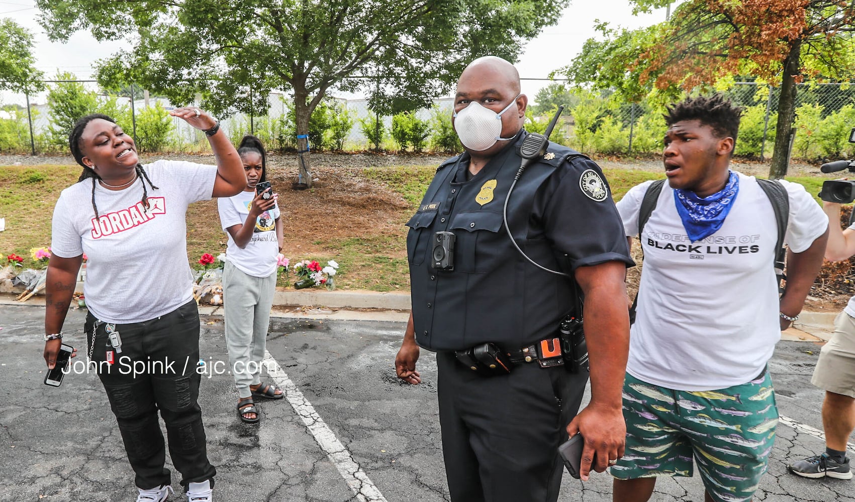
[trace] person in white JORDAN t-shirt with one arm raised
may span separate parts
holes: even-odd
[[[115,120],[92,114],[74,124],[68,146],[83,172],[54,208],[44,360],[56,365],[85,253],[85,355],[107,391],[138,500],[162,502],[172,490],[159,411],[188,498],[209,502],[215,469],[198,405],[199,314],[187,262],[186,212],[192,202],[233,196],[245,177],[238,152],[213,117],[198,108],[170,114],[205,132],[216,166],[166,160],[143,165],[133,138]]]

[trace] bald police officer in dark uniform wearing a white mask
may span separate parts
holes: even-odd
[[[412,312],[395,366],[399,378],[417,384],[419,347],[436,352],[453,502],[556,500],[557,448],[568,434],[585,438],[582,479],[623,454],[624,278],[633,261],[599,167],[555,144],[522,172],[507,223],[525,254],[572,279],[541,270],[515,248],[503,206],[522,161],[527,104],[508,61],[470,63],[457,81],[453,115],[466,151],[439,166],[407,223]],[[560,364],[566,359],[554,340],[577,303],[576,284],[592,384],[578,415],[587,370],[574,374]]]

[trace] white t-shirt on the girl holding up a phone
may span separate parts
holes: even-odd
[[[220,210],[220,223],[225,231],[233,225],[243,225],[250,215],[250,204],[256,196],[255,191],[240,192],[237,196],[221,197],[217,200]],[[269,277],[276,271],[276,255],[279,254],[279,240],[276,237],[276,219],[279,207],[261,213],[256,219],[256,228],[252,231],[250,242],[241,249],[234,242],[232,234],[226,231],[228,247],[226,260],[240,271],[252,277]]]

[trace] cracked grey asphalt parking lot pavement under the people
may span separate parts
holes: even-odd
[[[81,353],[84,315],[72,310],[66,322],[65,341]],[[97,376],[43,384],[43,322],[43,307],[0,305],[0,501],[134,500],[133,471]],[[227,367],[222,318],[203,316],[202,328],[208,368]],[[260,403],[258,425],[236,417],[230,374],[205,375],[199,401],[217,502],[448,500],[435,359],[422,351],[421,385],[399,382],[393,360],[403,331],[401,321],[274,318],[268,362],[278,368],[266,378],[290,387],[288,399]],[[823,392],[810,384],[819,343],[781,341],[769,363],[787,421],[777,428],[757,500],[855,502],[852,482],[786,471],[788,462],[823,449]],[[169,500],[184,500],[167,462],[176,490]],[[608,474],[584,483],[565,475],[559,500],[610,501],[610,486]],[[652,500],[703,500],[702,493],[697,476],[665,478]]]

